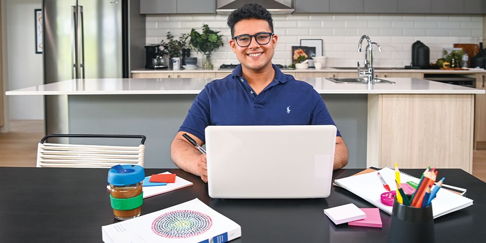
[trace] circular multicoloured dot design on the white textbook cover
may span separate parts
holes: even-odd
[[[211,218],[204,213],[177,210],[158,216],[152,223],[152,231],[162,237],[183,239],[200,235],[211,226]]]

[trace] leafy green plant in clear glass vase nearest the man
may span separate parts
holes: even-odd
[[[223,46],[223,35],[218,35],[219,31],[209,29],[207,24],[203,24],[203,32],[200,34],[195,29],[191,30],[190,46],[197,52],[203,53],[203,69],[212,69],[211,52]]]

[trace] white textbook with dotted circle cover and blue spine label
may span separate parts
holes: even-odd
[[[240,225],[197,198],[101,229],[105,243],[224,243],[242,235]]]

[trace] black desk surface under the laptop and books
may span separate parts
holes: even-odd
[[[0,242],[101,242],[101,226],[115,222],[106,190],[107,169],[0,167]],[[390,216],[381,212],[383,228],[335,226],[323,209],[354,203],[373,207],[344,189],[332,187],[326,199],[212,199],[207,184],[181,170],[165,171],[193,186],[147,198],[142,214],[195,197],[242,226],[237,242],[386,242]],[[298,170],[297,170],[298,171]],[[333,178],[359,169],[335,171]],[[402,170],[418,176],[420,170]],[[459,169],[439,169],[447,184],[468,189],[474,205],[435,220],[436,242],[484,242],[486,183]]]

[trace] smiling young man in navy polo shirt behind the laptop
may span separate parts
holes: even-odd
[[[249,3],[228,17],[229,45],[241,62],[233,73],[210,82],[194,100],[171,145],[171,157],[181,169],[208,181],[206,155],[189,144],[187,133],[205,143],[208,125],[334,125],[321,96],[305,82],[272,65],[278,36],[270,13]],[[333,169],[347,164],[347,147],[339,131]]]

